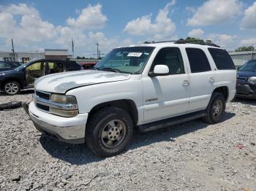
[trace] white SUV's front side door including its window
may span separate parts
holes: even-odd
[[[179,48],[159,50],[150,72],[156,65],[168,66],[169,74],[143,77],[144,122],[175,117],[189,109],[189,77]]]

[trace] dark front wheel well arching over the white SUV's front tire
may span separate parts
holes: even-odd
[[[99,104],[97,106],[94,106],[93,109],[91,109],[91,112],[89,112],[89,119],[91,116],[94,115],[95,112],[99,111],[99,109],[108,107],[108,106],[115,106],[121,109],[124,109],[131,117],[134,125],[137,125],[138,123],[138,110],[137,106],[135,105],[135,102],[128,99],[122,99],[117,101],[108,101],[102,104]]]

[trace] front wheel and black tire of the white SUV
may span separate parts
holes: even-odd
[[[129,114],[117,107],[96,112],[86,125],[86,144],[99,157],[123,152],[132,139],[133,122]]]

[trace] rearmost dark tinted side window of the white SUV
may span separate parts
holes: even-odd
[[[217,48],[208,48],[211,53],[211,57],[214,59],[214,62],[219,70],[234,70],[236,69],[230,55],[226,50],[217,49]]]

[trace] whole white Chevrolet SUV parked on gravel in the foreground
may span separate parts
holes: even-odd
[[[42,77],[29,113],[42,133],[86,142],[101,157],[145,132],[202,117],[222,120],[236,94],[236,69],[216,45],[152,42],[113,49],[95,70]]]

